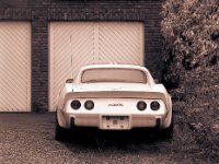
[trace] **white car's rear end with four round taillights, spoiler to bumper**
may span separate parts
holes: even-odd
[[[163,128],[170,114],[162,93],[71,93],[66,96],[65,102],[60,110],[65,128],[96,127],[103,130]]]

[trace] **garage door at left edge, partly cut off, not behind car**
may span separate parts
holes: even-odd
[[[0,22],[0,112],[31,109],[31,24]]]

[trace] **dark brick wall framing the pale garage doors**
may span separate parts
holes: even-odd
[[[145,22],[145,63],[161,72],[161,0],[0,0],[0,21],[32,23],[32,110],[48,107],[48,23],[51,21]]]

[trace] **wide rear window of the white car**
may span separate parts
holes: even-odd
[[[94,82],[125,82],[125,83],[147,83],[146,73],[136,69],[89,69],[82,73],[82,83]]]

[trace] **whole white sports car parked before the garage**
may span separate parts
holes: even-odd
[[[150,72],[132,65],[91,65],[67,80],[56,106],[56,139],[74,127],[157,128],[172,137],[172,101]]]

